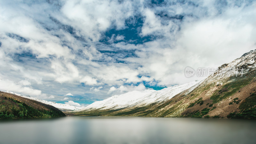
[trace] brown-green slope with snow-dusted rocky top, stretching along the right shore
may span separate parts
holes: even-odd
[[[75,116],[255,118],[256,50],[221,65],[198,85],[167,101],[119,109],[86,109]],[[252,101],[250,101],[252,100]],[[251,104],[248,104],[251,102]],[[90,106],[90,105],[89,105]],[[87,106],[87,107],[89,107]],[[243,107],[243,108],[242,108]],[[254,117],[255,116],[255,117]]]

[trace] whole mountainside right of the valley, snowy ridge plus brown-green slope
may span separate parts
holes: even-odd
[[[77,116],[256,117],[256,50],[220,66],[201,82],[128,92],[97,101]]]

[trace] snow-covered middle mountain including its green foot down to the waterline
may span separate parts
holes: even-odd
[[[199,83],[196,81],[188,84],[175,85],[159,91],[145,90],[142,92],[128,92],[119,96],[112,96],[106,100],[94,102],[71,114],[86,116],[133,116],[135,112],[141,111],[138,109],[148,109],[152,105],[165,103],[180,92],[192,91]],[[126,111],[128,111],[129,115],[127,115]]]

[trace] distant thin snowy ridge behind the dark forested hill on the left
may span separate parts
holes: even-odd
[[[5,91],[5,92],[12,93],[12,94],[15,94],[15,95],[18,95],[18,96],[21,96],[21,97],[24,97],[24,98],[27,98],[27,99],[30,99],[30,100],[36,100],[38,102],[42,102],[44,104],[51,105],[55,108],[60,109],[61,111],[74,111],[74,110],[80,110],[82,108],[82,107],[71,106],[71,105],[68,105],[68,104],[56,103],[56,102],[53,102],[53,101],[40,100],[40,99],[37,99],[37,98],[34,98],[34,97],[30,97],[29,95],[24,96],[24,95],[21,95],[21,94],[18,94],[18,93],[10,92],[10,91]]]

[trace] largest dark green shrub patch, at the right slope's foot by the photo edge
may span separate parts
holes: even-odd
[[[249,97],[247,97],[240,104],[239,109],[239,112],[230,113],[227,117],[256,119],[256,94],[252,93]]]

